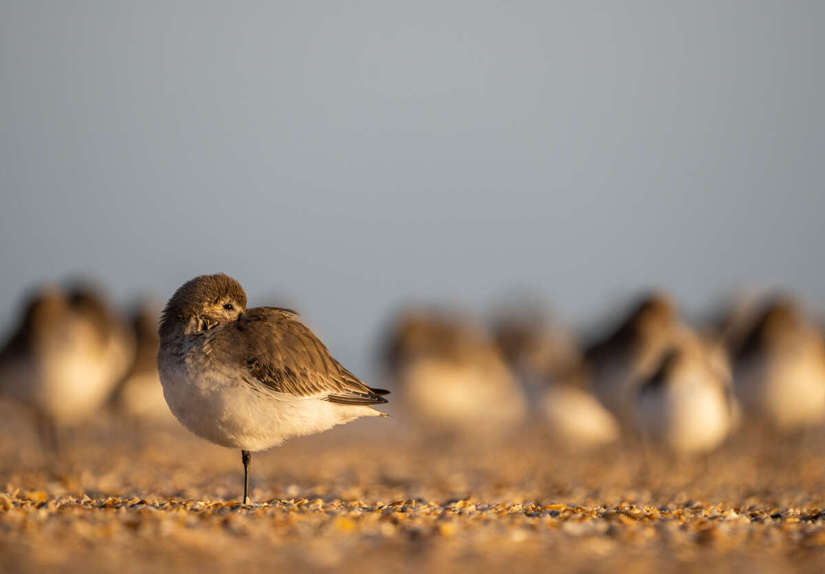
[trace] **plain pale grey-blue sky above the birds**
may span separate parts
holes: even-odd
[[[0,0],[0,320],[223,270],[364,369],[408,298],[825,304],[825,2]]]

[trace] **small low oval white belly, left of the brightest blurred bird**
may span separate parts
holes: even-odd
[[[540,408],[551,432],[570,446],[602,446],[619,436],[613,416],[584,390],[551,387],[544,393]]]

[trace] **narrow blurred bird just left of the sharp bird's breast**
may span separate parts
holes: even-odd
[[[133,420],[174,421],[163,398],[158,376],[158,322],[161,307],[153,301],[139,303],[131,312],[134,360],[112,397],[116,413]]]

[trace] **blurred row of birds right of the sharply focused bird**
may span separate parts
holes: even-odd
[[[742,298],[695,327],[648,293],[587,347],[530,305],[487,325],[408,310],[386,340],[400,402],[431,432],[477,437],[530,418],[578,449],[625,440],[698,455],[745,426],[795,436],[825,422],[825,338],[789,296]]]

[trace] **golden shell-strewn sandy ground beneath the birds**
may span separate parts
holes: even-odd
[[[396,419],[253,455],[105,418],[44,455],[0,405],[3,572],[825,568],[825,434],[705,460],[570,452],[540,429],[460,444]],[[479,441],[481,442],[481,441]]]

